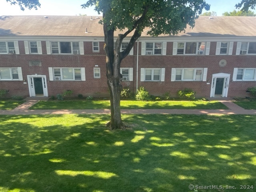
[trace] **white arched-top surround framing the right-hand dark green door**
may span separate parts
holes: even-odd
[[[230,74],[227,74],[227,73],[212,74],[212,86],[211,86],[210,97],[216,97],[215,90],[216,90],[217,78],[224,78],[222,94],[220,94],[220,97],[227,97],[228,96],[229,80],[230,80]]]

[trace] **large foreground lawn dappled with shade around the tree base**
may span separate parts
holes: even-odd
[[[0,191],[190,192],[190,184],[255,190],[255,116],[124,115],[132,126],[126,131],[106,130],[109,118],[0,116]]]

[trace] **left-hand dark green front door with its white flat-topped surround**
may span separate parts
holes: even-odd
[[[28,75],[28,89],[30,97],[48,97],[46,75]]]

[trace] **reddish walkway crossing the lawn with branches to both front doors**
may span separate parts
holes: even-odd
[[[219,100],[226,105],[227,110],[199,110],[199,109],[123,109],[122,114],[251,114],[256,115],[256,110],[245,110],[234,104],[231,98],[221,98]],[[0,110],[0,115],[37,115],[37,114],[110,114],[108,109],[90,109],[90,110],[28,110],[30,106],[36,104],[39,100],[48,100],[48,98],[26,98],[25,103],[13,110]],[[214,98],[216,100],[216,98]]]

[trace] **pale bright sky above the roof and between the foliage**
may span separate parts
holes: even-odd
[[[222,16],[224,12],[235,10],[235,5],[241,0],[206,0],[211,5],[210,11],[215,11],[217,16]],[[81,4],[85,4],[87,0],[39,0],[41,8],[38,10],[20,10],[18,5],[10,5],[6,0],[0,0],[0,16],[10,15],[66,15],[75,16],[86,14],[87,16],[98,16],[93,7],[82,8]],[[206,12],[204,10],[203,12]]]

